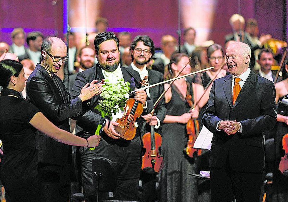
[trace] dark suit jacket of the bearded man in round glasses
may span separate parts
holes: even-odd
[[[132,69],[131,65],[129,65],[126,68]],[[155,71],[153,69],[147,69],[147,70],[148,70],[148,82],[149,82],[149,85],[156,84],[156,83],[164,81],[163,74],[160,73],[159,71]],[[152,88],[149,89],[149,93],[150,93],[149,97],[153,101],[153,103],[155,103],[157,101],[157,99],[160,97],[162,92],[164,92],[164,85],[163,84],[155,86],[155,87],[152,87]],[[157,108],[155,110],[155,113],[154,113],[157,116],[157,118],[159,118],[161,124],[163,123],[163,120],[165,118],[166,111],[167,111],[166,110],[166,103],[165,103],[165,99],[163,98],[161,100],[161,102],[158,104],[158,106],[157,106]],[[145,125],[148,125],[148,127],[149,127],[149,124],[145,124]],[[144,132],[146,132],[146,131],[144,131]]]

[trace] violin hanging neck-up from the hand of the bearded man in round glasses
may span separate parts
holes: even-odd
[[[152,113],[153,115],[153,113]],[[159,148],[162,144],[162,137],[155,132],[155,126],[151,126],[151,132],[145,133],[142,137],[143,148],[146,149],[144,156],[142,156],[142,170],[145,168],[152,168],[155,172],[161,169],[163,156],[160,155]]]

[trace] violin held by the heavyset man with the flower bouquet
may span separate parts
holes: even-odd
[[[142,81],[140,81],[141,88],[146,86],[147,76],[144,77]],[[118,126],[115,126],[115,131],[120,134],[120,137],[131,140],[135,137],[136,129],[135,121],[143,112],[143,104],[134,98],[130,98],[126,101],[126,105],[124,107],[124,114],[122,118],[116,120],[119,123]]]

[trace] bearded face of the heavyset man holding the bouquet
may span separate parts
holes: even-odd
[[[99,44],[99,51],[96,53],[99,65],[106,71],[114,71],[120,62],[120,51],[113,39],[103,41]]]

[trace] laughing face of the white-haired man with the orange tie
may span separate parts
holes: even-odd
[[[226,50],[226,64],[230,74],[239,76],[249,68],[250,56],[244,56],[241,42],[231,44]]]

